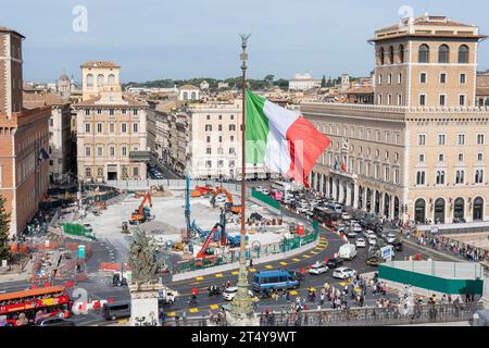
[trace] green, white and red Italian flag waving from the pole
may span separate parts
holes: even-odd
[[[246,91],[246,161],[309,187],[308,176],[331,142],[302,115]]]

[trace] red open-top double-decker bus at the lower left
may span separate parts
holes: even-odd
[[[52,316],[70,318],[72,304],[63,286],[2,294],[0,320],[9,326],[23,326]]]

